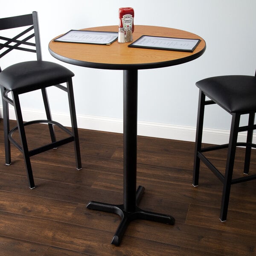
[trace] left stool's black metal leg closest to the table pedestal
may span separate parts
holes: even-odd
[[[74,148],[75,148],[75,154],[76,154],[76,169],[80,170],[80,169],[82,169],[81,153],[80,153],[80,147],[79,147],[79,136],[78,136],[78,129],[77,129],[73,83],[72,83],[71,78],[67,82],[67,94],[68,94],[68,102],[69,102],[69,107],[70,107],[70,118],[71,118],[72,131],[73,131],[73,135],[74,135]]]

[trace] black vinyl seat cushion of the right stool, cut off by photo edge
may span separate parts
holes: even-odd
[[[230,113],[256,110],[255,76],[215,76],[196,82],[196,86]]]

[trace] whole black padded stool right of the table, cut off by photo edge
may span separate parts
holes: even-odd
[[[256,112],[256,74],[255,76],[216,76],[198,81],[196,85],[200,90],[193,186],[198,186],[200,161],[202,160],[224,185],[221,199],[220,220],[226,221],[231,185],[256,179],[256,175],[248,175],[251,149],[256,148],[256,144],[253,144],[253,130],[256,129],[256,125],[254,124]],[[206,99],[206,96],[209,100]],[[228,144],[202,148],[204,108],[206,105],[211,104],[218,104],[231,114],[230,139]],[[240,126],[240,117],[243,114],[248,114],[248,125]],[[241,131],[247,131],[247,141],[245,143],[237,142],[238,133]],[[246,176],[233,179],[233,167],[237,146],[245,147],[244,174]],[[223,148],[228,149],[224,175],[204,154],[205,152]]]

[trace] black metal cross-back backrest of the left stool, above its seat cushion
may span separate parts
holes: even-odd
[[[0,58],[13,49],[16,49],[35,52],[37,54],[37,60],[41,61],[42,54],[38,27],[38,13],[32,12],[32,14],[27,15],[0,18],[0,30],[15,29],[18,27],[26,28],[12,38],[0,36]],[[31,38],[35,38],[35,43],[29,41]]]

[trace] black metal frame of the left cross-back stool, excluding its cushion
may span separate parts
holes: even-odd
[[[35,52],[37,55],[37,61],[42,61],[37,12],[32,12],[32,14],[29,14],[29,15],[20,15],[16,17],[7,17],[7,18],[0,19],[0,30],[13,29],[13,28],[23,27],[23,26],[29,26],[29,28],[26,28],[23,32],[20,32],[14,38],[6,38],[6,37],[0,36],[1,40],[6,41],[4,44],[2,43],[0,44],[0,50],[3,50],[3,48],[7,48],[5,49],[5,51],[3,51],[0,54],[0,58],[2,58],[11,50],[17,49],[17,50],[22,50],[27,52]],[[28,35],[28,33],[30,33],[30,35]],[[19,39],[24,36],[25,38]],[[31,38],[35,38],[35,43],[28,42]],[[0,72],[1,71],[2,70],[0,68]],[[50,82],[49,82],[49,85],[47,85],[47,87],[55,86],[67,92],[69,108],[70,108],[72,132],[69,129],[65,128],[63,125],[61,125],[60,123],[52,121],[46,86],[44,87],[35,86],[32,89],[24,86],[24,88],[22,89],[19,88],[18,90],[7,90],[5,87],[3,87],[0,84],[2,99],[3,99],[3,122],[4,122],[6,165],[11,164],[10,142],[12,142],[23,153],[30,189],[35,188],[34,178],[32,174],[32,167],[30,162],[30,157],[34,156],[35,154],[42,153],[52,148],[57,148],[66,143],[74,142],[75,155],[76,155],[76,168],[78,170],[81,169],[81,154],[80,154],[80,148],[79,148],[79,137],[78,137],[78,128],[77,128],[77,121],[76,121],[76,109],[75,109],[75,102],[74,102],[74,95],[73,95],[72,78],[70,77],[69,79],[66,79],[66,80],[67,81],[63,81],[63,82],[67,83],[67,87],[61,84],[51,84]],[[19,95],[22,93],[27,93],[27,92],[38,90],[38,89],[41,89],[41,92],[42,92],[47,120],[34,120],[29,122],[23,122]],[[12,94],[12,99],[8,97],[8,93]],[[11,104],[15,108],[15,114],[17,119],[17,127],[13,128],[12,130],[10,130],[10,124],[9,124],[9,104]],[[39,148],[35,148],[33,150],[29,150],[24,127],[26,125],[31,125],[35,123],[48,124],[49,134],[50,134],[52,143],[41,146]],[[56,140],[54,125],[57,125],[63,131],[65,131],[68,134],[68,137],[62,140]],[[21,145],[12,138],[12,134],[16,130],[19,131]]]

